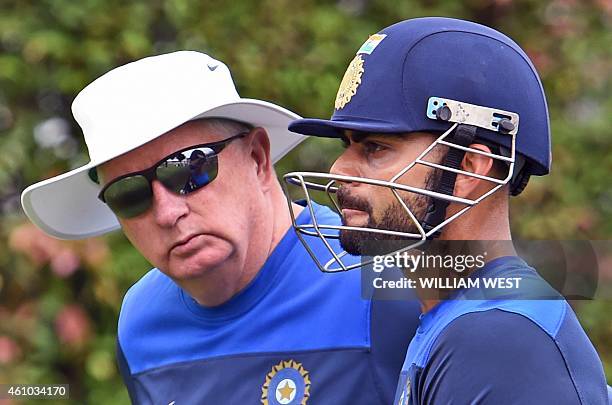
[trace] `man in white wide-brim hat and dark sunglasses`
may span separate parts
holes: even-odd
[[[391,401],[418,306],[363,300],[358,274],[314,269],[273,170],[301,140],[286,129],[295,114],[240,98],[227,67],[197,52],[114,69],[73,112],[91,162],[29,187],[23,206],[60,238],[120,225],[156,267],[119,318],[134,402]],[[297,223],[339,223],[293,208]]]

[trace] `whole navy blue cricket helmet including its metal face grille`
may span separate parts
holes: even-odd
[[[417,18],[394,24],[370,36],[359,48],[340,84],[334,113],[329,120],[300,119],[293,132],[342,137],[345,130],[375,134],[429,132],[438,138],[391,179],[370,179],[331,173],[292,172],[287,184],[301,186],[307,202],[309,190],[330,196],[343,183],[360,182],[390,189],[413,231],[374,227],[330,226],[313,221],[297,224],[298,236],[338,238],[342,231],[361,231],[423,242],[440,235],[444,226],[484,198],[508,185],[520,194],[529,177],[548,174],[551,167],[550,125],[542,83],[525,52],[504,34],[480,24],[451,18]],[[490,152],[470,145],[485,144]],[[436,145],[448,147],[441,164],[424,159]],[[466,152],[485,154],[506,164],[505,178],[478,175],[462,169]],[[441,170],[429,189],[410,187],[397,180],[415,165]],[[474,198],[453,195],[457,174],[493,184]],[[398,192],[429,197],[425,214],[418,217]],[[463,205],[447,216],[448,205]],[[291,204],[289,205],[292,210]],[[293,216],[293,211],[292,216]],[[421,215],[421,214],[420,214]],[[305,245],[307,245],[305,243]],[[308,248],[308,246],[307,246]],[[331,252],[323,271],[344,271],[342,255]],[[339,264],[340,267],[332,266]],[[362,263],[363,265],[363,263]]]

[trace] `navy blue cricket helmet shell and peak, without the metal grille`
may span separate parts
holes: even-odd
[[[429,98],[441,97],[517,113],[516,152],[525,161],[513,181],[550,171],[550,126],[542,83],[529,57],[504,34],[469,21],[416,18],[373,35],[357,52],[358,58],[360,83],[346,89],[349,94],[338,94],[344,99],[336,100],[331,119],[293,121],[291,131],[324,137],[338,137],[344,129],[443,132],[449,122],[424,114]],[[510,138],[498,131],[478,128],[476,136],[510,147]]]

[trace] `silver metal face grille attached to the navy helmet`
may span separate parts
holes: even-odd
[[[338,271],[347,271],[356,268],[360,268],[365,265],[371,264],[371,261],[365,260],[358,263],[354,263],[354,258],[352,260],[346,260],[349,256],[345,251],[334,251],[328,239],[339,239],[340,233],[343,231],[350,232],[360,232],[364,235],[369,235],[372,237],[382,238],[385,237],[393,238],[393,239],[402,239],[407,241],[408,245],[403,247],[401,251],[415,248],[419,244],[423,243],[427,239],[432,239],[437,235],[440,230],[448,225],[450,222],[454,221],[464,213],[466,213],[471,207],[478,204],[480,201],[484,200],[491,194],[495,193],[504,185],[508,184],[510,179],[512,178],[513,170],[514,170],[514,161],[515,161],[515,135],[509,135],[511,142],[510,149],[510,157],[502,156],[501,154],[488,153],[479,149],[474,149],[469,146],[458,145],[453,142],[449,142],[449,137],[453,134],[455,129],[458,127],[458,123],[453,124],[453,126],[442,135],[440,135],[429,147],[427,147],[416,159],[410,162],[407,166],[405,166],[401,171],[399,171],[395,176],[393,176],[390,180],[376,180],[369,179],[363,177],[353,177],[353,176],[343,176],[329,173],[316,173],[316,172],[291,172],[287,173],[283,178],[283,186],[285,195],[287,197],[287,203],[289,206],[292,224],[294,229],[296,230],[300,241],[304,244],[304,247],[316,263],[319,270],[323,272],[338,272]],[[492,159],[507,162],[509,164],[508,174],[503,179],[497,179],[495,177],[484,176],[476,173],[471,173],[460,168],[451,167],[445,164],[437,164],[427,161],[426,156],[438,145],[444,145],[449,148],[457,148],[462,152],[472,152],[481,155],[485,155]],[[463,174],[469,177],[478,178],[480,180],[487,181],[493,185],[493,187],[483,193],[481,196],[475,199],[465,199],[453,196],[452,194],[444,194],[439,192],[439,190],[427,190],[424,188],[407,186],[399,182],[399,179],[404,176],[408,171],[413,169],[417,165],[424,165],[428,167],[432,167],[434,169],[439,169],[443,172],[450,172],[453,174]],[[317,191],[322,192],[323,195],[327,198],[326,202],[328,205],[335,208],[337,212],[341,211],[341,207],[338,202],[334,198],[334,194],[336,194],[339,188],[342,186],[342,183],[362,183],[370,186],[381,187],[382,189],[390,190],[393,196],[395,197],[397,203],[402,207],[404,213],[407,218],[409,218],[410,222],[414,225],[414,228],[417,230],[416,232],[402,232],[393,229],[375,229],[368,228],[366,226],[347,226],[347,225],[335,225],[335,224],[325,224],[320,223],[316,216],[315,210],[313,207],[314,199],[311,196],[311,192]],[[298,190],[301,191],[300,197],[302,197],[306,201],[306,207],[310,210],[312,222],[307,224],[298,224],[295,220],[296,215],[294,212],[292,200],[294,197],[294,193],[289,187],[297,186]],[[429,197],[432,200],[438,200],[446,202],[447,204],[450,202],[458,203],[463,205],[463,208],[458,212],[453,214],[452,216],[443,219],[440,223],[435,224],[435,226],[425,226],[423,221],[415,215],[414,209],[410,207],[404,199],[402,199],[401,194],[405,193],[415,193],[419,195],[424,195]],[[313,252],[314,249],[311,248],[309,244],[309,240],[312,240],[309,237],[317,237],[319,240],[323,241],[324,246],[327,248],[329,252],[329,257],[324,258],[323,260],[317,257]],[[389,254],[395,254],[399,251],[394,251]],[[361,252],[362,254],[367,254],[367,252]]]

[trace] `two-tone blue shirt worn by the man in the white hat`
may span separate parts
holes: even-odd
[[[315,215],[339,223],[327,208],[316,206]],[[307,209],[297,219],[310,221]],[[323,260],[330,256],[318,238],[309,242]],[[128,291],[119,318],[132,401],[391,403],[420,307],[364,300],[360,280],[359,271],[321,273],[293,230],[254,280],[217,307],[198,305],[151,270]]]

